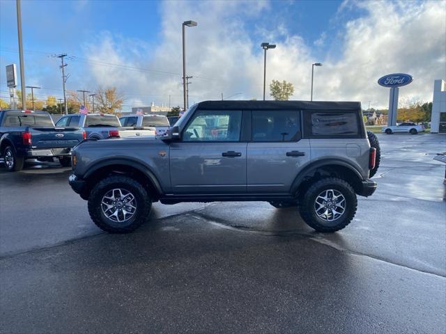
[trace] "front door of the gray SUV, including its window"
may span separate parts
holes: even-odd
[[[242,111],[197,110],[170,145],[172,190],[245,193],[246,146],[240,142]]]

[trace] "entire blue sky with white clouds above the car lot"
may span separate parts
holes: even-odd
[[[22,28],[26,85],[38,97],[67,88],[116,86],[125,109],[151,102],[182,104],[181,23],[187,28],[190,102],[261,99],[261,42],[267,83],[293,83],[293,100],[360,101],[387,107],[384,74],[412,74],[400,102],[431,101],[433,80],[446,79],[446,1],[26,1]],[[15,1],[0,0],[0,97],[8,100],[5,66],[19,64]],[[267,95],[267,98],[269,96]]]

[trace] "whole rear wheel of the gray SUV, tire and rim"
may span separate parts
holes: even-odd
[[[309,187],[300,204],[300,216],[318,232],[334,232],[351,222],[356,207],[351,185],[337,177],[327,177]]]

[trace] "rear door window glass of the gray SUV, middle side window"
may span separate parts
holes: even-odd
[[[299,111],[252,111],[252,141],[298,141]]]

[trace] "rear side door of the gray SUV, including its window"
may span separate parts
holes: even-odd
[[[247,145],[247,191],[289,193],[300,168],[310,159],[302,139],[300,111],[252,111],[252,141]]]

